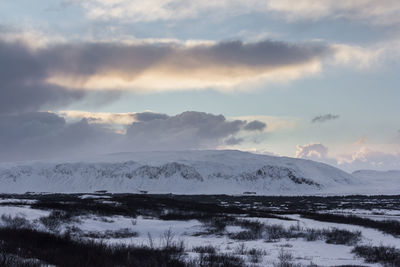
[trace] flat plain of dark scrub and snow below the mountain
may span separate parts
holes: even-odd
[[[295,241],[345,246],[354,258],[365,260],[365,264],[400,266],[399,247],[368,245],[363,242],[362,231],[341,227],[372,229],[399,238],[399,220],[376,220],[345,212],[362,209],[371,216],[383,216],[386,211],[392,214],[400,207],[396,206],[399,196],[180,196],[98,192],[1,195],[0,198],[0,211],[15,208],[41,212],[35,219],[26,214],[2,212],[0,266],[318,266],[312,259],[305,263],[296,257]],[[361,201],[368,203],[367,208]],[[125,224],[120,228],[91,229],[85,224],[91,220],[95,226],[117,225],[121,218]],[[304,225],[303,219],[327,226]],[[176,234],[172,228],[158,234],[150,231],[143,234],[136,230],[138,221],[143,220],[171,224],[171,227],[178,222],[196,222],[197,227],[184,234]],[[187,241],[191,238],[230,241],[225,247],[212,242],[193,246]],[[275,251],[268,244],[275,246]],[[266,262],[271,257],[273,260]]]

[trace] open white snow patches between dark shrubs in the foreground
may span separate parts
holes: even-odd
[[[48,212],[29,209],[24,207],[0,207],[0,215],[20,216],[33,222],[38,229],[44,229],[38,220],[42,216],[47,216]],[[400,248],[400,241],[390,235],[383,234],[377,230],[367,229],[359,226],[318,222],[310,219],[301,218],[298,215],[289,216],[296,221],[285,221],[279,219],[265,218],[245,218],[246,220],[256,220],[265,224],[280,224],[285,227],[300,225],[309,229],[329,229],[332,227],[346,230],[360,230],[362,240],[360,244],[368,245],[389,245]],[[339,265],[362,265],[362,266],[381,266],[379,264],[365,263],[363,259],[354,256],[352,246],[327,244],[322,240],[306,241],[302,238],[279,239],[276,242],[266,242],[263,239],[252,241],[237,241],[230,239],[227,235],[196,235],[203,229],[203,224],[197,220],[189,221],[164,221],[154,218],[144,218],[139,216],[134,221],[132,218],[124,216],[82,216],[69,226],[79,228],[87,232],[106,232],[117,231],[119,229],[130,229],[137,233],[135,237],[129,238],[106,238],[97,239],[98,241],[110,244],[134,244],[149,245],[150,238],[155,247],[164,245],[164,235],[170,232],[174,241],[183,241],[188,249],[187,257],[198,257],[198,253],[193,252],[193,248],[198,246],[211,245],[219,253],[230,253],[247,260],[246,256],[239,253],[240,249],[259,249],[264,252],[261,261],[252,266],[272,266],[277,262],[281,251],[293,255],[296,263],[308,265],[311,262],[318,266],[339,266]],[[244,229],[228,227],[227,232],[235,232]],[[251,264],[250,262],[248,262]]]

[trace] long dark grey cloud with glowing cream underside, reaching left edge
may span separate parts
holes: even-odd
[[[249,90],[244,84],[287,82],[320,71],[331,49],[322,43],[49,42],[34,45],[0,39],[0,85],[4,104],[27,110],[87,90]],[[16,101],[28,94],[31,103]],[[11,108],[9,106],[3,109]],[[22,110],[25,111],[25,110]]]

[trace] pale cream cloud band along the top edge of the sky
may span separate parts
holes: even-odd
[[[87,0],[81,1],[81,5],[89,19],[124,22],[176,21],[199,18],[205,13],[211,18],[221,18],[251,13],[272,15],[272,12],[288,21],[346,18],[380,25],[400,21],[397,0],[299,0],[296,5],[292,0],[215,0],[184,4],[178,0]]]

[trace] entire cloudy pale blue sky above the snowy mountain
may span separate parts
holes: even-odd
[[[239,149],[400,169],[397,0],[0,0],[0,161]]]

